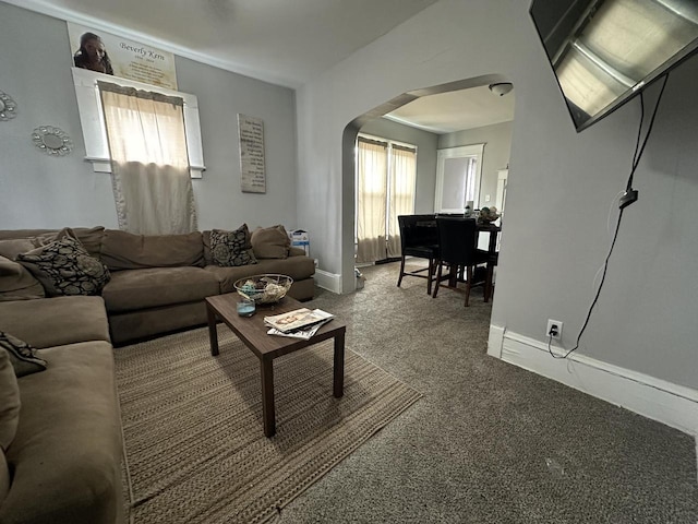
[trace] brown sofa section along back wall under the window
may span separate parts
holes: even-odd
[[[166,236],[131,235],[103,227],[73,228],[72,231],[110,271],[111,279],[101,296],[115,345],[204,324],[205,297],[234,293],[237,279],[255,274],[288,275],[293,278],[289,296],[301,301],[313,298],[313,260],[303,250],[290,246],[274,249],[278,246],[265,242],[266,239],[255,243],[257,231],[252,233],[251,239],[254,252],[277,253],[278,258],[258,257],[256,264],[236,267],[214,264],[210,231]],[[0,230],[0,255],[14,259],[22,241],[46,242],[57,233]]]

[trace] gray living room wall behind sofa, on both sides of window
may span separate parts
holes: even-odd
[[[0,228],[117,227],[109,175],[84,162],[65,22],[0,2],[0,90],[17,103],[0,122]],[[179,90],[198,97],[207,170],[194,180],[201,229],[296,227],[296,108],[292,90],[177,57]],[[264,121],[267,192],[240,191],[237,115]],[[39,124],[75,144],[53,158],[32,144]]]

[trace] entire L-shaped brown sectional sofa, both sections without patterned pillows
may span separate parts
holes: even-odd
[[[32,344],[48,361],[45,371],[17,379],[16,434],[7,450],[0,446],[3,524],[121,521],[112,344],[204,324],[204,297],[233,293],[237,279],[254,274],[291,276],[289,295],[299,300],[314,293],[313,260],[300,249],[264,243],[264,235],[255,246],[256,231],[254,252],[267,258],[237,267],[213,263],[209,231],[142,237],[95,227],[72,233],[109,269],[101,296],[40,298],[43,288],[25,273],[12,274],[23,270],[11,261],[51,241],[57,231],[0,230],[0,331]]]

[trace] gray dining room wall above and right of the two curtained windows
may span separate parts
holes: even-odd
[[[361,132],[417,145],[414,213],[433,213],[438,135],[393,122],[385,118],[372,120],[361,128]]]

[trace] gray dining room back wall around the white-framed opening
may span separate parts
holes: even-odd
[[[514,96],[514,93],[508,96]],[[480,178],[480,202],[476,206],[494,205],[497,171],[506,168],[512,154],[512,122],[466,129],[438,136],[440,150],[472,144],[485,144]],[[486,201],[488,195],[491,199],[489,202]]]

